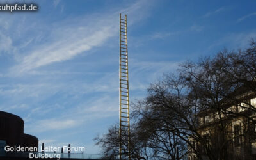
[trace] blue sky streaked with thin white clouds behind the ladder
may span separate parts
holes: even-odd
[[[40,143],[86,153],[99,153],[93,138],[118,122],[119,13],[131,102],[180,62],[256,38],[256,1],[26,2],[40,10],[0,12],[0,109],[21,116]]]

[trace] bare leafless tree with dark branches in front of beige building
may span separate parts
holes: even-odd
[[[187,159],[193,154],[196,159],[252,159],[255,61],[252,40],[244,51],[223,50],[186,61],[177,74],[151,84],[147,97],[132,105],[132,158]],[[237,119],[243,123],[234,126]],[[118,125],[96,141],[106,157],[118,157]],[[243,156],[234,151],[236,143]]]

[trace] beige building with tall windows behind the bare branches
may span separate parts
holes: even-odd
[[[198,113],[196,138],[189,138],[188,159],[256,159],[256,95],[246,92],[224,102],[221,108]],[[209,158],[211,157],[211,158]]]

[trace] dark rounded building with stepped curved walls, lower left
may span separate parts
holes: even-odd
[[[8,146],[37,147],[35,136],[24,134],[24,121],[17,115],[0,111],[0,140]]]

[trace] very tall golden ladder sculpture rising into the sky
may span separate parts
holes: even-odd
[[[120,57],[119,57],[119,157],[131,159],[130,117],[129,117],[129,81],[127,49],[127,15],[122,19],[120,13]]]

